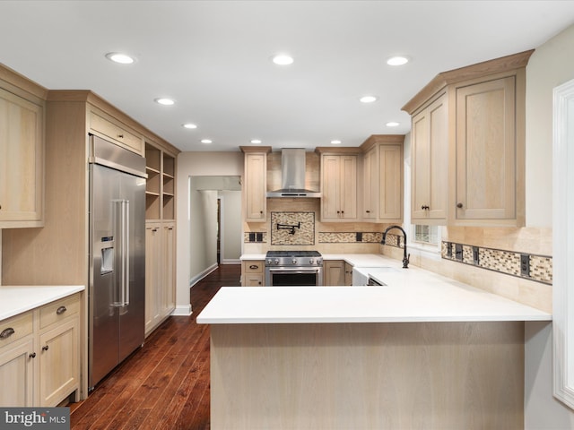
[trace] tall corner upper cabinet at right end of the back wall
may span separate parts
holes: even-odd
[[[375,134],[361,145],[362,220],[402,222],[403,142],[403,134]]]

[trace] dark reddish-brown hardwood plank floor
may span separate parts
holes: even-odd
[[[241,266],[220,265],[191,288],[191,316],[172,316],[70,406],[71,428],[209,429],[209,326],[196,316],[222,286],[238,286]]]

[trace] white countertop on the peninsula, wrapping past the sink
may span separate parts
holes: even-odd
[[[327,254],[384,287],[224,287],[197,323],[552,321],[552,314],[377,254]],[[374,264],[377,263],[377,264]]]

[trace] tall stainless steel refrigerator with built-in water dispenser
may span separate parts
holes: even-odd
[[[145,159],[90,136],[90,389],[143,344]]]

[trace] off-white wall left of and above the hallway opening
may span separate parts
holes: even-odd
[[[243,154],[237,152],[181,152],[178,155],[178,261],[176,310],[174,314],[191,314],[189,303],[189,282],[192,279],[190,267],[190,176],[243,176]]]

